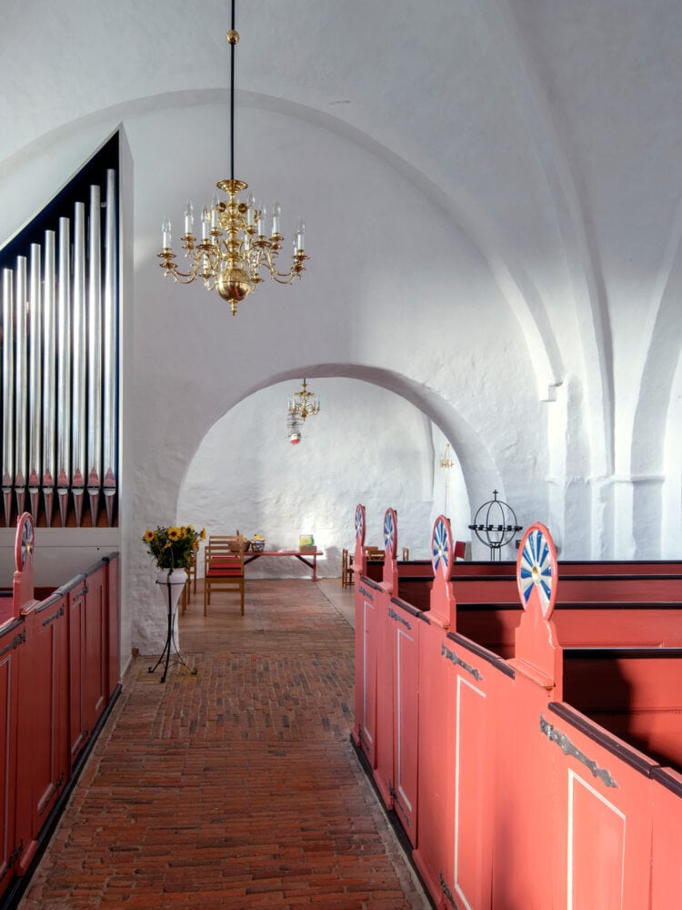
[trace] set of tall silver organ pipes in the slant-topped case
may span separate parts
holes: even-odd
[[[25,511],[26,493],[39,526],[116,522],[117,175],[101,173],[104,189],[92,183],[89,200],[72,197],[43,242],[27,241],[27,255],[2,268],[5,526]]]

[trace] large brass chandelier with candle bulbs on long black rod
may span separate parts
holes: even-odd
[[[227,200],[213,192],[211,205],[205,206],[201,214],[201,240],[194,233],[194,207],[187,200],[185,208],[185,233],[180,238],[188,263],[188,271],[180,270],[176,254],[171,248],[172,226],[166,217],[162,230],[163,248],[158,254],[164,275],[171,275],[180,284],[190,284],[196,278],[203,278],[207,290],[216,288],[226,300],[232,315],[237,305],[263,280],[262,268],[266,268],[278,284],[291,284],[294,278],[301,278],[306,270],[305,241],[306,225],[300,219],[294,231],[294,253],[288,271],[277,270],[277,258],[284,237],[280,234],[282,209],[275,200],[272,207],[272,231],[266,235],[266,207],[256,202],[250,192],[246,202],[238,195],[247,187],[243,180],[235,179],[235,48],[239,34],[235,30],[235,0],[232,0],[232,27],[226,35],[230,45],[230,178],[219,180],[217,189],[226,193]]]

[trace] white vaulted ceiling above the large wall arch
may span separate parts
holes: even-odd
[[[224,88],[228,6],[5,3],[0,174],[99,110]],[[610,425],[613,317],[654,319],[680,201],[681,19],[676,0],[240,0],[237,86],[364,136],[428,188],[490,262],[545,393],[573,369],[577,319]]]

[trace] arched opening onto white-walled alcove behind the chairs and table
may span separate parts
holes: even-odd
[[[398,511],[400,546],[426,558],[435,516],[447,509],[457,539],[468,539],[466,485],[454,466],[439,467],[446,437],[414,404],[362,379],[318,377],[308,385],[320,412],[302,424],[292,445],[286,432],[289,379],[242,399],[201,440],[178,497],[178,521],[207,533],[237,529],[266,538],[267,549],[296,547],[312,533],[325,551],[320,575],[340,574],[341,550],[353,545],[356,503],[366,505],[367,541],[380,542],[384,512]],[[445,489],[447,484],[447,491]],[[255,576],[303,572],[295,561],[259,561]],[[276,561],[280,563],[281,561]]]

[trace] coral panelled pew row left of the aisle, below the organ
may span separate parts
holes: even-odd
[[[0,598],[0,896],[13,906],[120,691],[117,554],[36,589],[33,541],[24,513],[12,596]]]

